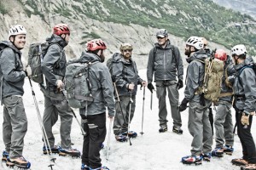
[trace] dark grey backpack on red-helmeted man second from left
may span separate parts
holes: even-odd
[[[52,44],[57,44],[57,43],[38,42],[38,43],[32,43],[29,46],[27,65],[30,65],[32,69],[32,76],[31,76],[32,81],[38,82],[39,84],[45,82],[44,75],[41,70],[41,62],[43,61],[44,55],[47,53],[49,46]]]

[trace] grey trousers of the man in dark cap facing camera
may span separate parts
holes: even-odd
[[[157,81],[156,95],[159,99],[159,121],[160,126],[166,126],[167,124],[167,110],[166,110],[166,89],[168,91],[168,98],[171,105],[173,125],[175,127],[182,126],[182,120],[180,112],[178,111],[178,90],[176,81]]]

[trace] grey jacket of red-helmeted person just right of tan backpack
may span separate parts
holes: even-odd
[[[225,80],[226,80],[226,73],[225,71],[227,71],[227,76],[233,76],[236,74],[236,70],[234,68],[232,59],[230,58],[230,56],[228,56],[227,60],[224,62],[224,74],[222,77],[222,84],[221,84],[221,94],[225,94],[225,93],[232,93],[233,89],[230,88],[229,86],[226,85]],[[223,101],[227,101],[229,103],[232,102],[232,96],[225,96],[225,97],[221,97],[219,98],[219,102],[223,102]]]

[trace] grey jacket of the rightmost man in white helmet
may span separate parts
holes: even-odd
[[[243,96],[236,100],[236,108],[241,111],[252,112],[256,109],[256,77],[252,68],[244,67],[253,65],[253,59],[247,57],[239,65],[235,65],[236,77],[233,84],[235,96]]]

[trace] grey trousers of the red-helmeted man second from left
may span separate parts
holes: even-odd
[[[52,127],[58,120],[58,115],[61,117],[61,148],[71,148],[71,125],[73,121],[73,113],[67,104],[67,99],[57,100],[51,99],[44,95],[44,128],[49,139],[50,147],[55,145],[55,137],[52,133]],[[44,140],[43,140],[44,141]]]

